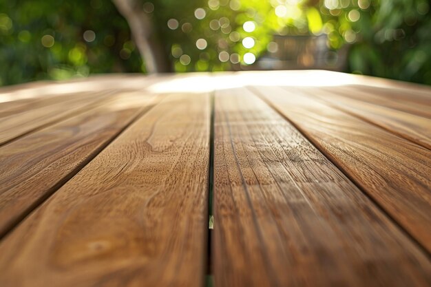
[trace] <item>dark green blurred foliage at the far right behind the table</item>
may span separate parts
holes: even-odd
[[[431,17],[424,0],[372,1],[352,23],[350,70],[431,85]]]

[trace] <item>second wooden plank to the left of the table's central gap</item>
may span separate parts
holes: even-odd
[[[105,105],[0,147],[0,237],[149,105],[151,96],[142,92],[116,94]]]

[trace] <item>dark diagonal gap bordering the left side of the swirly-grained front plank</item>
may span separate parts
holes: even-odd
[[[61,180],[59,180],[59,182],[54,184],[54,186],[52,188],[48,189],[48,191],[41,198],[39,198],[39,200],[36,200],[27,209],[25,209],[21,213],[21,215],[19,217],[17,217],[16,220],[14,220],[14,222],[12,222],[9,226],[7,226],[4,229],[4,231],[2,233],[0,233],[0,240],[3,240],[4,237],[6,237],[8,234],[12,233],[14,228],[17,228],[17,226],[19,226],[19,224],[21,224],[21,222],[23,222],[23,220],[25,220],[25,217],[28,217],[34,210],[36,210],[46,200],[48,200],[52,195],[54,195],[54,193],[56,193],[56,191],[61,189],[61,187],[63,187],[64,184],[66,184],[69,180],[71,180],[76,175],[76,173],[81,171],[81,169],[83,169],[94,158],[96,158],[96,156],[99,153],[101,153],[101,151],[103,151],[103,149],[105,149],[108,145],[110,145],[112,142],[114,142],[114,140],[116,140],[116,138],[121,136],[121,134],[123,134],[127,128],[129,128],[131,125],[133,125],[139,118],[141,118],[150,109],[152,109],[154,106],[156,106],[159,101],[160,100],[156,100],[156,103],[152,103],[150,105],[147,105],[141,111],[139,111],[138,114],[136,114],[136,116],[134,118],[132,118],[132,120],[129,120],[129,123],[124,125],[124,127],[122,129],[120,129],[120,131],[117,132],[117,134],[115,134],[114,136],[112,136],[112,138],[109,138],[109,140],[104,142],[103,145],[101,145],[101,147],[98,147],[98,149],[96,149],[92,153],[90,153],[90,156],[87,156],[87,158],[85,158],[80,164],[78,164],[78,166],[76,166],[74,169],[72,169],[72,171],[70,171],[70,173],[67,173],[67,175],[64,176],[63,178],[61,178]],[[89,109],[89,110],[91,110],[91,109]]]

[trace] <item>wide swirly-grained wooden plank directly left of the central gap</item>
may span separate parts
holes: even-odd
[[[201,286],[209,94],[173,94],[0,243],[0,286]]]

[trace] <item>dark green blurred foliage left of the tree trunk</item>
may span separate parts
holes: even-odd
[[[0,0],[0,84],[140,72],[130,39],[110,1]]]

